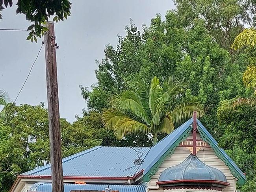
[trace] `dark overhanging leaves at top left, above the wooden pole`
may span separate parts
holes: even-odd
[[[8,5],[13,5],[13,0],[0,0],[0,19],[2,19],[1,11],[7,8]],[[70,16],[71,3],[69,0],[18,0],[16,13],[26,15],[26,20],[32,22],[28,27],[30,31],[27,40],[31,39],[37,42],[37,37],[41,37],[47,28],[43,27],[43,23],[48,21],[48,18],[55,16],[53,21],[67,19]]]

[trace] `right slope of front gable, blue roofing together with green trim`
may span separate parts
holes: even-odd
[[[211,148],[213,148],[213,150],[215,151],[217,157],[225,162],[226,166],[228,166],[228,168],[230,169],[232,175],[238,179],[238,183],[241,185],[245,184],[245,175],[239,169],[236,163],[228,156],[228,154],[226,154],[226,152],[222,148],[219,148],[217,141],[211,136],[211,134],[207,131],[207,129],[199,120],[197,120],[197,124],[197,129],[201,135],[201,138],[204,141],[208,142]]]

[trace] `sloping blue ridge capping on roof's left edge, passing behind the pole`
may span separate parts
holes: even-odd
[[[81,152],[79,152],[79,153],[75,153],[74,155],[70,155],[70,156],[68,156],[68,157],[65,157],[65,158],[62,159],[62,163],[67,162],[67,161],[70,161],[71,159],[75,159],[75,158],[77,158],[77,157],[80,157],[80,156],[85,155],[85,154],[87,154],[87,153],[90,153],[91,151],[95,151],[95,150],[97,150],[97,149],[99,149],[99,148],[102,148],[102,146],[95,146],[95,147],[93,147],[93,148],[90,148],[90,149],[81,151]],[[20,175],[31,175],[31,174],[35,174],[35,173],[37,173],[37,172],[40,172],[40,171],[42,171],[42,170],[45,170],[45,169],[50,168],[50,166],[51,166],[51,164],[48,163],[48,164],[46,164],[46,165],[44,165],[44,166],[41,166],[41,167],[38,167],[38,168],[34,168],[33,170],[30,170],[30,171],[28,171],[28,172],[22,173],[22,174],[20,174]]]

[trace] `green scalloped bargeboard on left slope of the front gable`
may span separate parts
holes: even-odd
[[[163,163],[166,157],[170,157],[175,151],[176,147],[189,137],[189,133],[192,130],[192,126],[188,126],[182,135],[170,146],[170,148],[158,159],[158,161],[150,168],[146,175],[143,177],[144,182],[150,181],[151,177],[158,171],[159,166]]]

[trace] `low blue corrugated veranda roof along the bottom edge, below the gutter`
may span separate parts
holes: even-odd
[[[69,184],[64,183],[64,192],[71,190],[105,190],[108,185],[92,185],[92,184]],[[120,192],[145,192],[145,185],[109,185],[112,190],[119,190]],[[35,183],[31,187],[31,191],[35,192],[52,192],[52,183]]]

